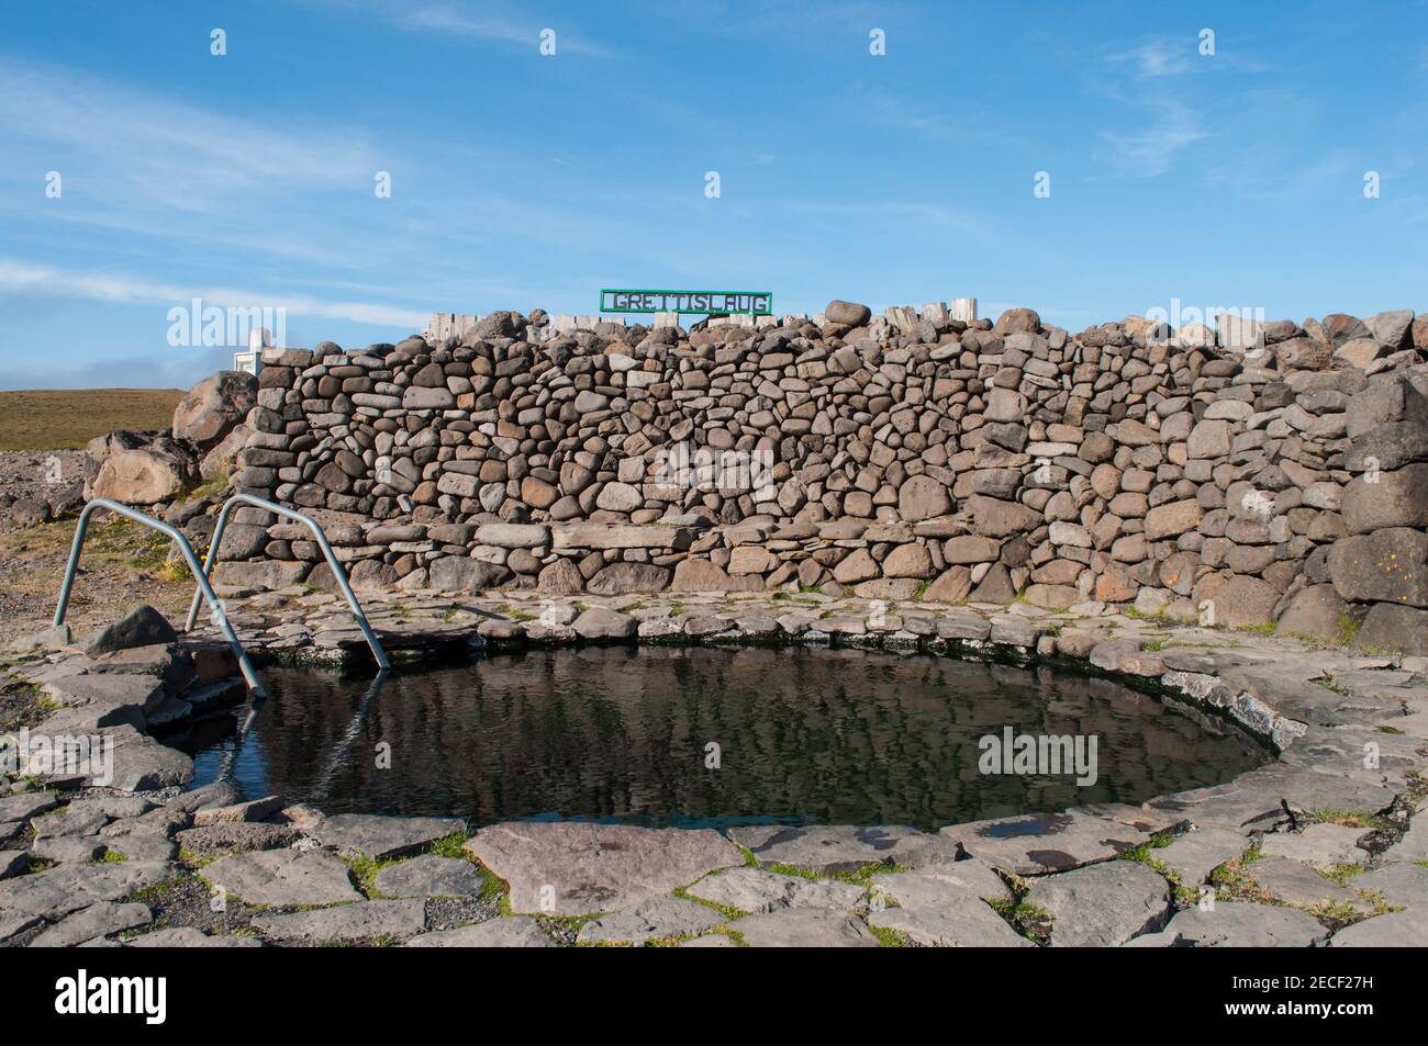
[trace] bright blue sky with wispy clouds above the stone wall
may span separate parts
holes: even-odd
[[[618,285],[1428,308],[1425,126],[1425,0],[9,1],[0,388],[186,387],[194,297],[291,345]]]

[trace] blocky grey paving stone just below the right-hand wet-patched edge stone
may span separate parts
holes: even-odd
[[[1114,948],[1170,918],[1170,883],[1135,860],[1107,860],[1031,883],[1027,900],[1051,919],[1052,948]]]

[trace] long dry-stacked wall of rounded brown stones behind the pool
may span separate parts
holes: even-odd
[[[1411,311],[497,313],[266,350],[234,484],[313,511],[358,585],[1100,601],[1422,652],[1425,355]],[[237,521],[221,582],[330,582],[303,528]]]

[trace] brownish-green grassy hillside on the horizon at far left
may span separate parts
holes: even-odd
[[[116,428],[169,428],[177,388],[61,388],[0,392],[0,451],[84,447]]]

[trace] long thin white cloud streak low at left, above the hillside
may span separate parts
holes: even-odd
[[[0,258],[0,293],[150,305],[187,305],[194,298],[201,298],[206,305],[286,308],[293,315],[316,320],[346,320],[413,331],[421,330],[430,318],[427,313],[398,305],[323,301],[230,287],[186,287],[111,273],[66,271],[13,258]]]

